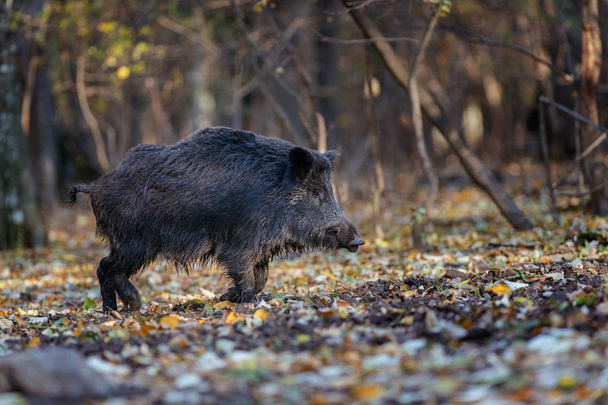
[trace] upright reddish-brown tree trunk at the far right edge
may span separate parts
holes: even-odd
[[[602,38],[599,26],[598,0],[583,0],[581,4],[582,37],[582,113],[595,124],[599,123],[597,109],[597,84],[602,64]],[[593,142],[593,130],[582,127],[583,147]],[[591,192],[591,208],[595,215],[608,215],[608,188],[600,185],[605,181],[608,169],[598,154],[588,162],[588,186]]]

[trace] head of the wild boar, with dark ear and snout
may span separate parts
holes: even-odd
[[[291,188],[288,226],[296,243],[308,248],[356,252],[365,242],[334,198],[331,174],[338,152],[321,154],[294,147],[285,181]]]

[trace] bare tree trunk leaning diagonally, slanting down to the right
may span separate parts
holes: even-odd
[[[346,0],[342,0],[342,2],[347,8],[349,7]],[[349,9],[349,12],[365,36],[374,39],[374,47],[397,83],[404,90],[409,91],[407,69],[395,54],[389,42],[382,41],[384,36],[367,15],[353,9]],[[420,89],[420,105],[422,113],[450,144],[471,179],[492,198],[504,217],[516,229],[530,229],[532,223],[502,188],[492,172],[463,142],[462,128],[449,120],[448,114],[442,110],[441,106],[425,89]]]

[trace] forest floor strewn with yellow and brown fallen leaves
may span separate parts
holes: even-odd
[[[345,207],[368,243],[273,262],[256,305],[217,302],[216,268],[157,262],[137,315],[100,311],[94,218],[62,210],[51,247],[0,256],[0,392],[21,391],[0,402],[46,396],[44,373],[38,391],[14,367],[3,382],[3,359],[60,346],[113,404],[605,403],[608,223],[566,201],[554,225],[537,194],[518,198],[537,227],[515,232],[475,189],[444,190],[424,252],[398,199],[383,240],[367,205]]]

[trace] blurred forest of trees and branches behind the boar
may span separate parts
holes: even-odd
[[[608,213],[607,1],[0,7],[0,249],[48,241],[67,187],[133,145],[217,125],[338,149],[340,200],[376,211],[472,181],[529,228],[505,180],[533,163],[547,195]]]

